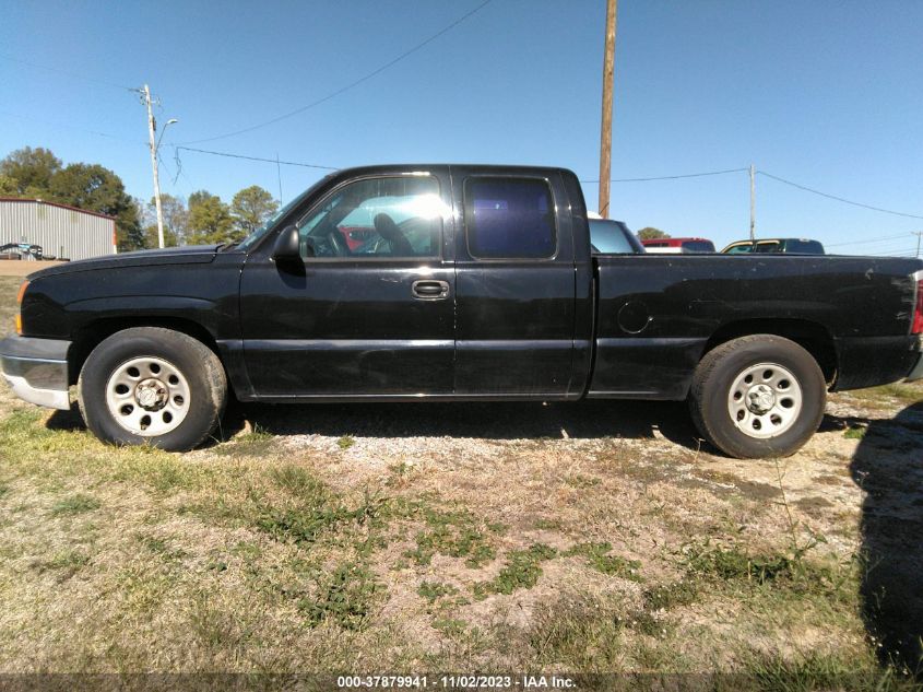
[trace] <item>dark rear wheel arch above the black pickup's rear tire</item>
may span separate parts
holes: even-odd
[[[838,357],[833,336],[824,325],[807,319],[757,318],[727,322],[711,335],[701,357],[732,339],[754,335],[772,335],[794,341],[817,361],[827,386],[836,383]]]

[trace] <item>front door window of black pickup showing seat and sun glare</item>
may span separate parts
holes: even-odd
[[[439,257],[446,212],[430,176],[356,180],[298,222],[301,257]]]

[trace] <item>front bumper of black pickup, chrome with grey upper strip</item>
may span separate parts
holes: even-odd
[[[0,367],[13,394],[29,403],[69,410],[70,345],[70,341],[29,337],[9,337],[0,341]]]

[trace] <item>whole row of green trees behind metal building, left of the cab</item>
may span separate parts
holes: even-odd
[[[131,197],[121,178],[99,164],[64,165],[47,149],[17,149],[0,160],[0,197],[42,199],[114,216],[119,251],[158,245],[154,199]],[[161,204],[168,246],[239,241],[279,209],[258,185],[238,191],[229,203],[199,190],[188,200],[161,195]]]

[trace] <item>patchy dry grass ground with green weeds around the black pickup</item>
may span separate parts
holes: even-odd
[[[0,278],[0,322],[17,285]],[[880,420],[921,392],[845,401]],[[770,462],[611,435],[613,420],[647,431],[672,410],[619,406],[523,420],[471,404],[446,409],[472,417],[470,436],[380,445],[367,408],[311,408],[321,432],[297,445],[255,425],[171,455],[100,445],[73,415],[0,390],[2,672],[706,671],[760,689],[911,689],[863,619],[866,575],[889,565],[854,556],[860,493],[817,481],[855,489],[855,461],[832,453],[868,455],[864,429],[821,433],[780,488]],[[529,432],[531,418],[554,425]],[[589,432],[563,439],[558,422]],[[671,439],[693,434],[670,423]],[[485,432],[516,425],[529,439]],[[863,482],[890,502],[907,492],[912,511],[916,455],[888,454],[868,455]],[[829,506],[807,513],[817,495]]]

